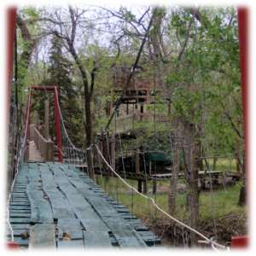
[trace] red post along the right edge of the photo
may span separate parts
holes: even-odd
[[[239,1],[237,8],[250,234],[233,237],[231,251],[252,253],[255,248],[255,9],[248,1]]]

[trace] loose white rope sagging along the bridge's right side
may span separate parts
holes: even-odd
[[[150,198],[150,197],[148,197],[148,196],[146,196],[146,195],[143,195],[142,193],[138,192],[137,189],[133,188],[131,185],[129,185],[128,183],[126,183],[125,180],[124,180],[122,177],[120,177],[119,174],[118,174],[117,172],[115,172],[111,166],[109,166],[108,161],[105,160],[105,158],[103,157],[102,152],[100,151],[100,149],[99,149],[96,145],[95,145],[95,147],[97,148],[99,154],[101,154],[102,160],[104,160],[104,162],[107,164],[107,166],[110,168],[110,170],[111,170],[117,177],[119,177],[119,178],[121,179],[121,181],[122,181],[123,183],[125,183],[126,186],[128,186],[128,187],[131,188],[131,189],[133,189],[138,195],[142,195],[144,198],[151,200],[151,201],[153,202],[153,204],[154,204],[154,207],[156,207],[157,209],[159,209],[160,212],[164,213],[167,217],[171,218],[173,221],[177,222],[177,224],[183,225],[183,227],[185,227],[185,228],[187,228],[187,229],[189,229],[189,230],[195,232],[195,234],[197,234],[198,236],[201,236],[201,237],[204,239],[203,241],[200,240],[200,241],[198,241],[198,242],[200,242],[200,243],[206,243],[206,244],[211,245],[211,246],[212,246],[212,249],[213,249],[216,253],[218,253],[218,254],[220,254],[220,255],[226,255],[226,254],[229,254],[229,253],[230,253],[230,247],[225,247],[225,246],[223,246],[223,245],[218,244],[218,243],[215,242],[215,241],[211,241],[210,239],[207,238],[207,236],[202,235],[199,231],[194,230],[194,229],[192,229],[191,227],[189,227],[188,225],[183,224],[182,222],[178,221],[176,218],[173,218],[170,214],[168,214],[167,212],[165,212],[164,210],[162,210],[160,207],[158,207],[158,206],[155,204],[153,198]],[[223,249],[226,248],[226,252],[225,252],[225,253],[221,253],[215,246],[216,246],[216,247],[221,247],[221,248],[223,248]]]

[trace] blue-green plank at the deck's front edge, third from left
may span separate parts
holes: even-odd
[[[113,255],[113,247],[108,237],[108,232],[84,231],[84,245],[87,254]]]

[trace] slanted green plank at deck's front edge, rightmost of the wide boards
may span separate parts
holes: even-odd
[[[113,236],[119,243],[119,247],[126,255],[150,254],[150,251],[136,230],[132,229],[122,218],[103,218]]]

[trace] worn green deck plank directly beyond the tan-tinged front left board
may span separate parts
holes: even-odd
[[[53,213],[49,201],[44,199],[43,190],[30,189],[29,185],[26,189],[26,195],[30,201],[32,224],[36,223],[53,223]]]

